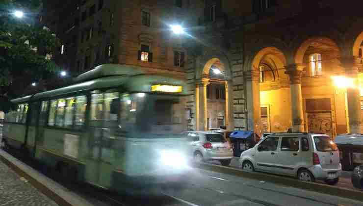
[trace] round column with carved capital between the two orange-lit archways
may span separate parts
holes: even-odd
[[[293,132],[304,132],[303,97],[301,94],[301,76],[303,75],[302,65],[289,65],[285,74],[290,77],[291,92],[291,122]]]

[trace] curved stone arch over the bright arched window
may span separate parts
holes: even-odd
[[[338,50],[339,54],[342,51],[342,47],[340,45],[340,42],[338,42],[337,38],[332,39],[326,36],[313,36],[310,38],[307,38],[305,40],[300,39],[300,41],[298,41],[300,43],[298,43],[298,45],[296,47],[294,47],[295,49],[293,49],[293,62],[289,62],[290,64],[296,63],[296,64],[302,64],[304,62],[304,55],[306,53],[306,51],[308,50],[308,48],[313,45],[313,44],[318,44],[318,43],[324,43],[326,44],[327,47],[334,47]]]

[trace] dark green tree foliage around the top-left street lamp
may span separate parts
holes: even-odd
[[[59,47],[59,40],[37,23],[41,8],[41,0],[0,0],[0,95],[17,95],[9,88],[16,87],[19,81],[24,84],[25,80],[31,82],[59,70],[45,58]],[[15,17],[15,10],[23,11],[24,17]],[[7,96],[0,98],[0,104]]]

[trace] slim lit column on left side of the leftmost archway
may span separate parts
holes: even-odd
[[[196,129],[207,130],[207,85],[209,79],[203,78],[197,82],[196,99]]]

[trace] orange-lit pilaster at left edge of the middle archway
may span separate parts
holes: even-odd
[[[246,82],[246,103],[247,103],[247,129],[258,131],[258,124],[261,117],[261,105],[259,102],[259,71],[249,71],[244,74]]]

